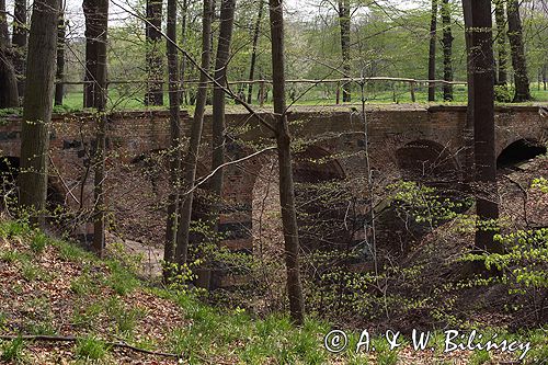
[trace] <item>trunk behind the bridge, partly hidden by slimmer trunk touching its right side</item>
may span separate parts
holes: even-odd
[[[98,39],[101,30],[96,24],[100,0],[83,0],[82,8],[85,16],[85,75],[83,84],[83,107],[95,106],[95,85],[98,67]]]

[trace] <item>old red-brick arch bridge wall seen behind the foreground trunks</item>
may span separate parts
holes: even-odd
[[[518,140],[546,144],[548,119],[539,106],[496,107],[496,155]],[[190,118],[183,113],[184,130]],[[459,173],[465,163],[466,106],[368,106],[372,168],[384,171],[416,169],[427,162],[438,171]],[[289,114],[293,134],[312,140],[297,151],[296,169],[301,178],[310,175],[361,179],[365,175],[364,124],[355,110],[323,107],[296,111]],[[247,156],[250,142],[273,141],[271,133],[248,114],[228,114],[231,135],[243,141],[228,142],[229,159]],[[205,140],[209,139],[210,116],[206,116]],[[52,124],[50,175],[56,190],[65,194],[69,207],[92,202],[92,173],[89,156],[92,149],[93,119],[89,114],[54,115]],[[207,144],[205,144],[207,147]],[[20,123],[16,116],[0,119],[0,156],[20,155]],[[124,112],[110,115],[107,148],[115,150],[121,162],[129,163],[139,157],[169,146],[169,113],[163,111]],[[298,156],[307,157],[299,162]],[[207,156],[204,152],[204,156]],[[331,162],[327,162],[330,160]],[[202,158],[205,167],[207,158]],[[256,175],[265,156],[246,160],[227,168],[224,197],[231,209],[220,218],[221,230],[229,232],[225,244],[237,250],[252,249],[252,201]],[[437,164],[436,164],[437,163]],[[91,225],[82,232],[91,233]]]

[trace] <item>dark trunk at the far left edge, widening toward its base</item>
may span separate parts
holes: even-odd
[[[18,79],[8,35],[5,0],[0,0],[0,109],[19,106]]]

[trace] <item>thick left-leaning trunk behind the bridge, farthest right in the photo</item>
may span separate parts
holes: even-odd
[[[532,100],[529,91],[529,77],[527,76],[527,62],[523,45],[522,20],[520,18],[520,1],[509,0],[506,5],[509,18],[510,52],[512,54],[512,67],[514,68],[515,94],[514,103]]]

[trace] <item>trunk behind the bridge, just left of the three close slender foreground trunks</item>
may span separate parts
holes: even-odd
[[[147,0],[147,93],[145,94],[145,105],[163,105],[163,65],[159,52],[160,39],[162,37],[159,30],[162,27],[162,1]]]

